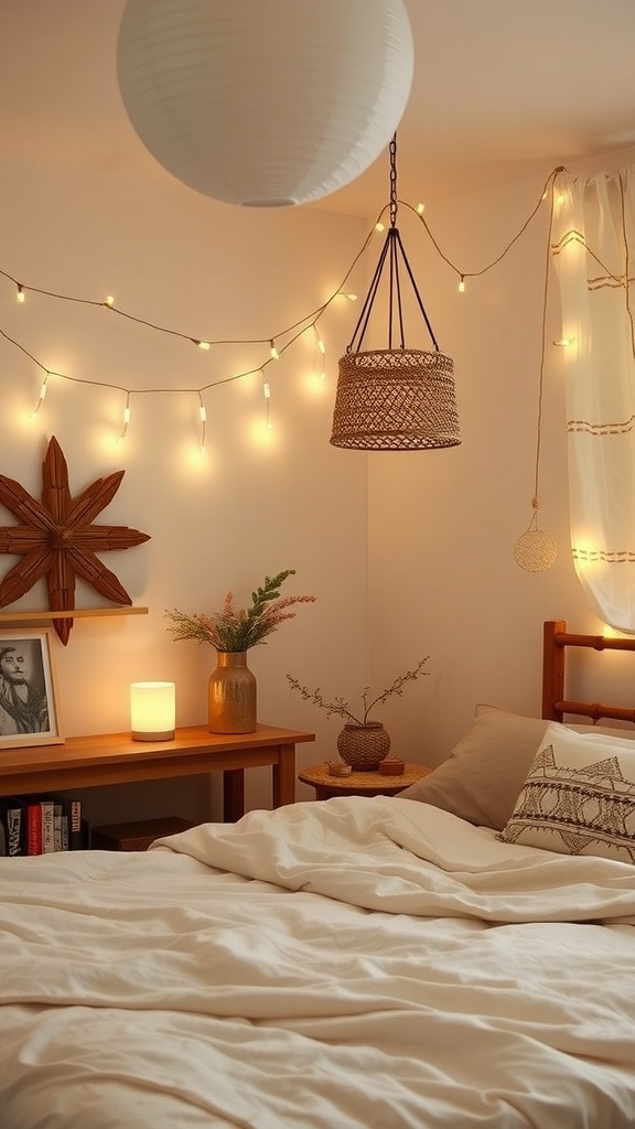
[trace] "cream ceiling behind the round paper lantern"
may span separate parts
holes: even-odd
[[[635,0],[405,2],[416,59],[401,196],[429,202],[635,146]],[[123,7],[0,0],[0,157],[168,175],[119,95]],[[312,207],[373,216],[388,193],[383,154]]]

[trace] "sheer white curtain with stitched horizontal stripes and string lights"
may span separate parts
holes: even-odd
[[[599,618],[635,634],[635,166],[554,192],[573,559]]]

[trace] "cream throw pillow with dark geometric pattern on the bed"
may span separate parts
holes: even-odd
[[[562,855],[598,855],[635,864],[635,749],[619,737],[580,738],[550,724],[505,842]]]

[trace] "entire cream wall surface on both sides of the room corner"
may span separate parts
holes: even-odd
[[[629,156],[585,168],[621,167]],[[313,209],[241,212],[167,174],[149,186],[116,170],[97,178],[35,163],[0,173],[1,270],[26,286],[96,301],[113,292],[120,308],[192,336],[279,333],[334,292],[367,231],[360,220]],[[541,186],[527,180],[456,196],[428,209],[427,219],[460,269],[479,270],[520,229]],[[408,686],[382,718],[397,752],[436,763],[476,702],[539,710],[543,619],[601,630],[567,550],[562,358],[549,345],[540,524],[556,539],[558,559],[540,575],[513,559],[532,513],[546,211],[463,296],[418,221],[405,217],[401,228],[440,344],[455,360],[463,443],[454,449],[366,456],[330,446],[337,359],[358,312],[345,299],[321,323],[325,384],[313,375],[311,334],[267,369],[270,434],[262,428],[261,382],[245,378],[206,396],[203,460],[198,400],[185,391],[133,396],[128,438],[116,443],[123,397],[98,382],[197,388],[260,364],[262,353],[242,345],[201,353],[106,310],[44,296],[18,306],[15,288],[0,278],[2,332],[46,366],[94,382],[52,380],[33,418],[41,373],[0,339],[0,472],[38,493],[41,461],[55,435],[73,492],[125,469],[103,520],[151,536],[137,549],[102,554],[149,614],[77,620],[68,647],[55,648],[69,735],[125,730],[128,686],[140,679],[174,680],[179,724],[205,721],[214,653],[174,644],[164,610],[218,607],[227,588],[247,602],[266,572],[288,567],[297,577],[286,592],[315,594],[319,603],[301,606],[250,654],[250,665],[260,720],[316,732],[316,744],[298,746],[299,764],[333,753],[339,721],[302,702],[287,672],[325,694],[357,698],[368,682],[381,690],[429,655],[429,677]],[[373,254],[367,266],[374,268]],[[350,283],[360,296],[365,277],[360,264]],[[551,294],[547,340],[557,332]],[[429,342],[424,333],[408,343]],[[0,510],[0,520],[14,519]],[[0,560],[2,575],[14,562]],[[94,593],[78,590],[78,605],[96,603]],[[20,605],[45,607],[44,586]],[[619,674],[615,664],[611,672]],[[267,805],[267,771],[247,773],[246,782],[247,804]],[[218,812],[218,780],[209,790],[190,781],[84,795],[99,821]],[[297,795],[312,791],[298,786]]]

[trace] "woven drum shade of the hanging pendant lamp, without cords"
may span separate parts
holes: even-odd
[[[421,450],[461,443],[451,357],[376,349],[340,358],[331,444]]]

